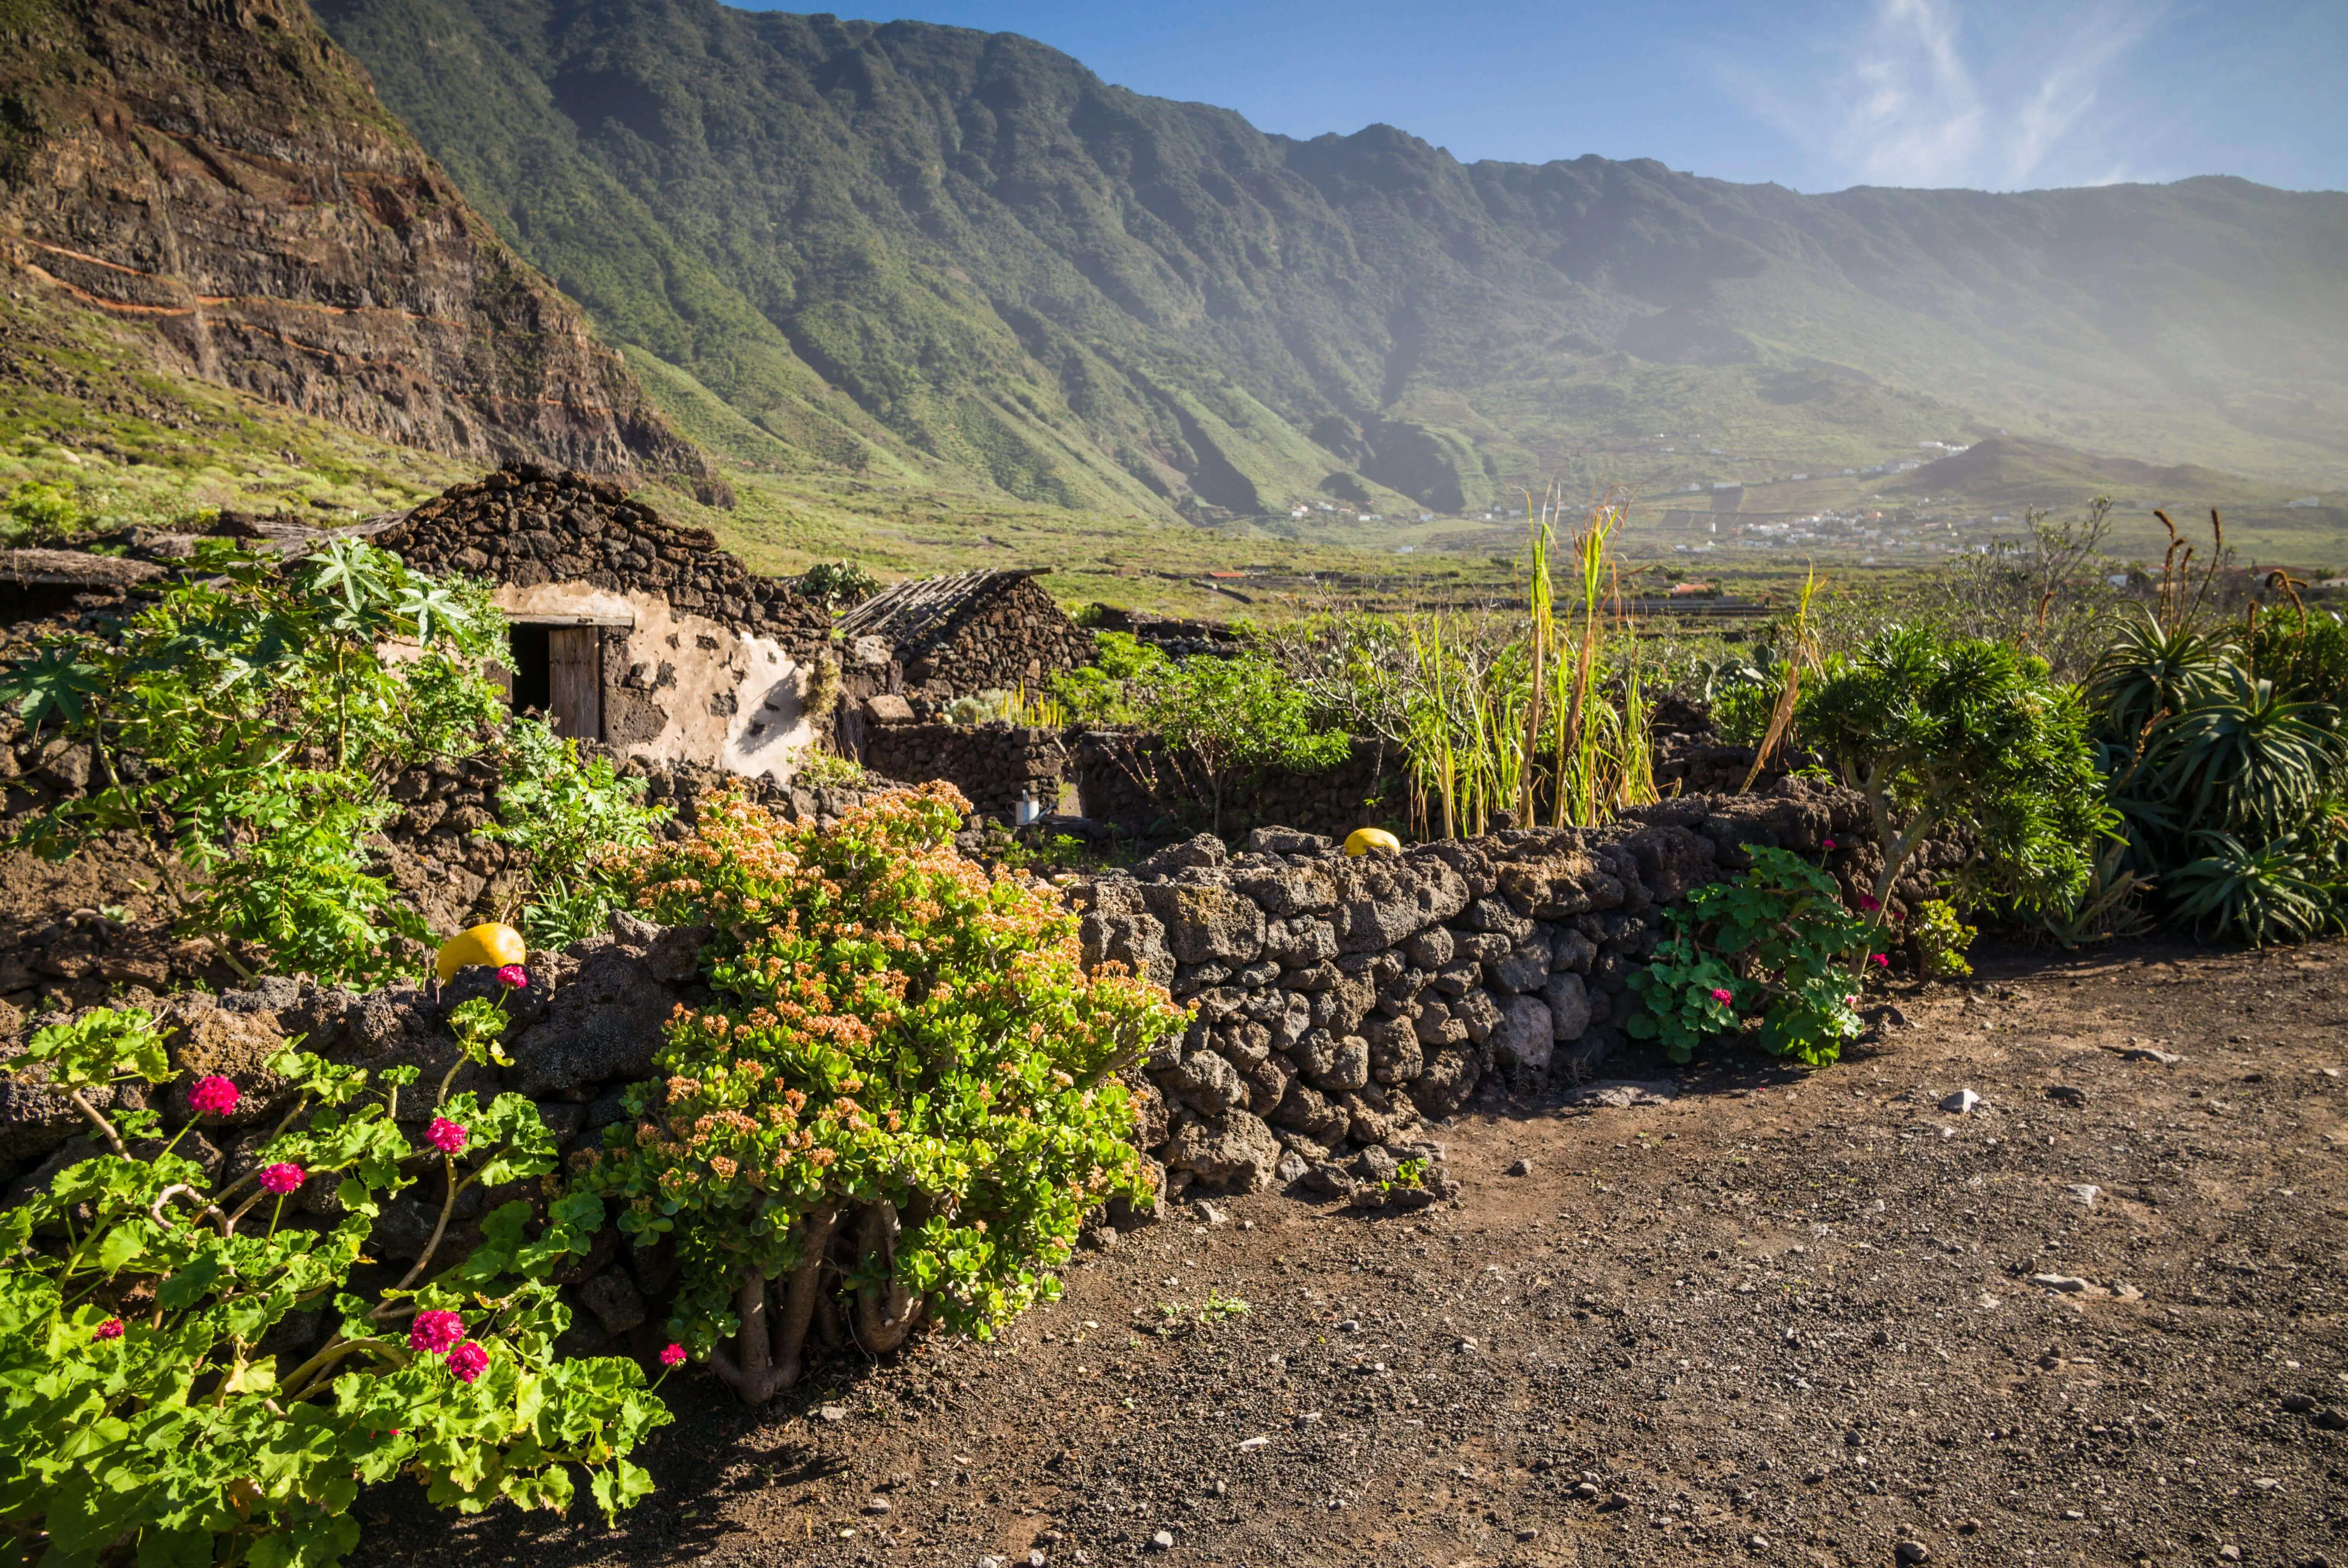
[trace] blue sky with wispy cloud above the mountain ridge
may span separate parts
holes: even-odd
[[[1315,136],[1383,120],[1465,160],[1660,157],[1796,190],[2017,190],[2188,174],[2348,188],[2348,0],[841,0],[836,9],[1026,33],[1111,82],[1221,103],[1268,131]]]

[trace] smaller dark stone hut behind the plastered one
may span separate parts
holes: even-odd
[[[1033,695],[1057,671],[1092,664],[1092,634],[1035,584],[1043,570],[895,582],[841,615],[857,695],[899,695],[927,718],[956,697]]]

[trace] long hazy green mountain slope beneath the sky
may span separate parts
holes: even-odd
[[[1803,197],[1266,136],[927,23],[319,14],[747,465],[1193,519],[1475,512],[1559,472],[1658,491],[1998,430],[2348,481],[2336,192]]]

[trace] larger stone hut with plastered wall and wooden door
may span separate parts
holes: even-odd
[[[829,721],[829,615],[704,528],[585,474],[510,467],[376,535],[418,570],[493,584],[514,707],[648,763],[787,782]]]

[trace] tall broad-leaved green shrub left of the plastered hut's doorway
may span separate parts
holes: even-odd
[[[479,667],[500,617],[477,584],[336,540],[291,568],[207,540],[115,638],[68,636],[0,676],[28,725],[89,746],[85,796],[19,840],[68,859],[108,833],[150,857],[176,925],[239,972],[378,981],[420,918],[369,873],[385,779],[479,749],[502,697]],[[411,657],[383,648],[411,643]]]

